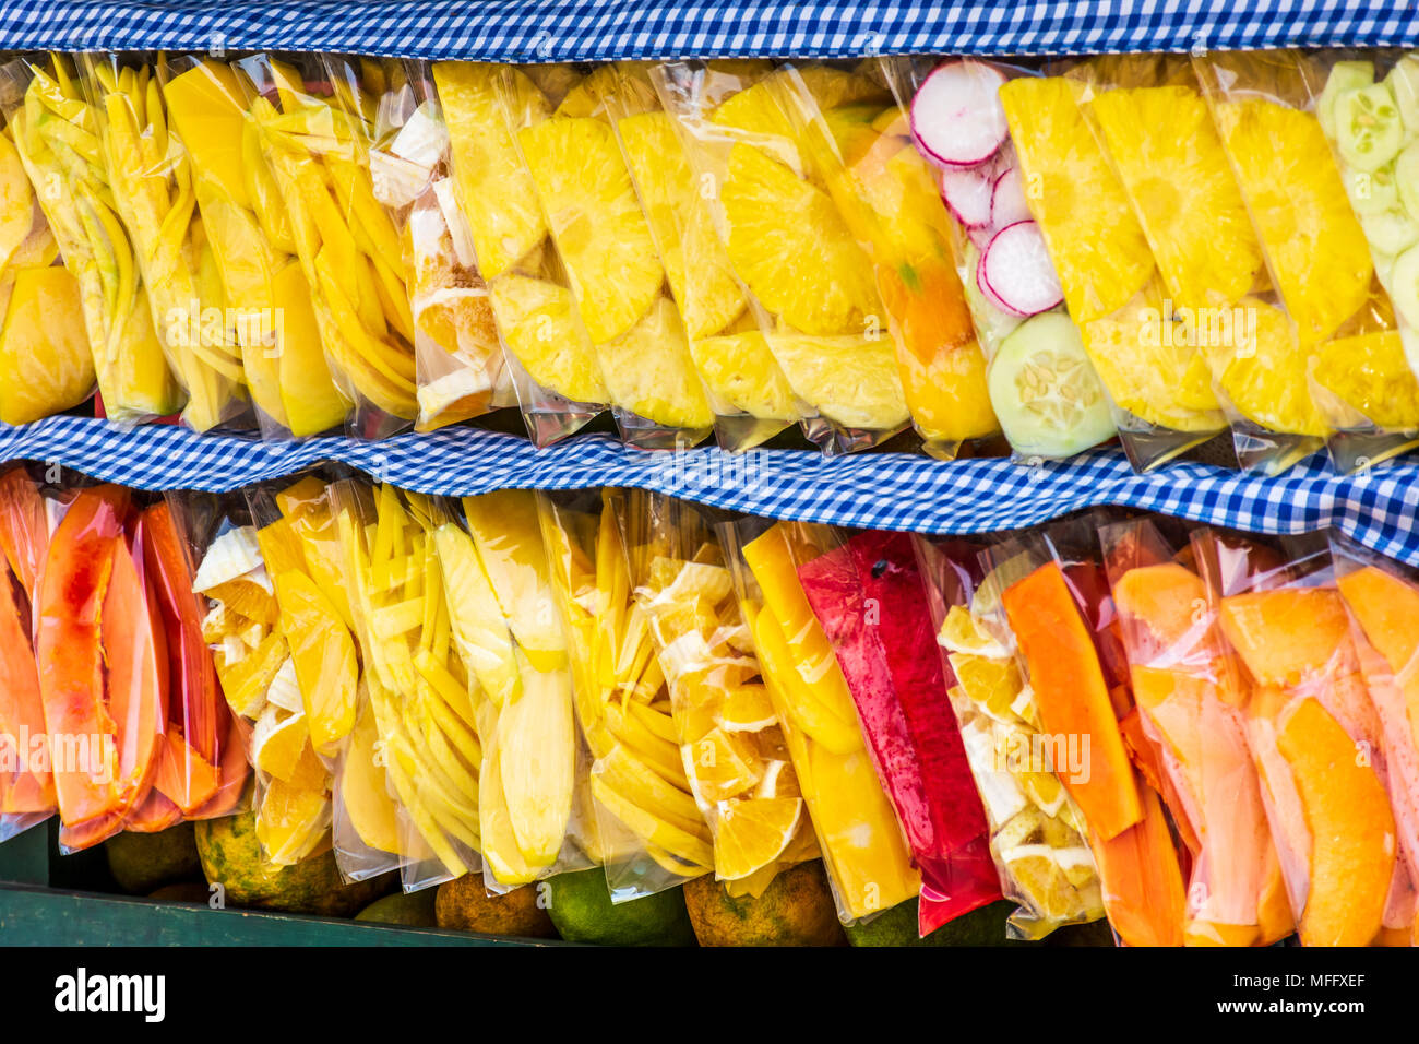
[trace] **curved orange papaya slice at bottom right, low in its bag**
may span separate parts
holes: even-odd
[[[1300,700],[1277,730],[1311,835],[1305,946],[1365,946],[1382,928],[1395,818],[1375,770],[1321,703]]]

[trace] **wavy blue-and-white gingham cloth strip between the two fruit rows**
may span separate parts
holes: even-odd
[[[1118,450],[1022,467],[1002,459],[944,464],[901,453],[834,459],[807,450],[656,453],[604,436],[536,450],[525,439],[475,428],[383,442],[263,443],[170,425],[122,430],[105,420],[60,416],[0,428],[0,460],[20,459],[139,489],[214,493],[339,460],[421,493],[631,486],[773,518],[921,533],[1007,530],[1117,504],[1253,533],[1335,526],[1366,547],[1419,565],[1419,464],[1347,477],[1331,472],[1323,456],[1264,479],[1195,463],[1134,474]]]

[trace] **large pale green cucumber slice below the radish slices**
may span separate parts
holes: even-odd
[[[1073,320],[1033,315],[1000,344],[986,376],[1016,453],[1067,457],[1114,436],[1114,419]]]

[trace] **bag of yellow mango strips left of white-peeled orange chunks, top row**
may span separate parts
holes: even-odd
[[[331,376],[355,403],[353,432],[394,432],[417,413],[414,330],[406,251],[375,197],[368,149],[372,98],[399,67],[312,57],[298,68],[265,54],[236,67],[265,161],[260,189],[284,205]]]

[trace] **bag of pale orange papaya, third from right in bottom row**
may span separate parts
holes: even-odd
[[[1219,607],[1183,526],[1134,518],[1098,535],[1142,740],[1155,756],[1149,781],[1191,854],[1183,942],[1270,946],[1294,919],[1247,743],[1250,689]]]

